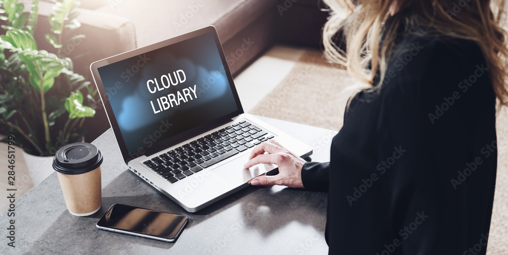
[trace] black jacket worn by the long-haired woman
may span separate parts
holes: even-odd
[[[497,145],[483,53],[416,36],[394,52],[382,89],[346,109],[330,163],[302,170],[329,192],[329,253],[485,254]]]

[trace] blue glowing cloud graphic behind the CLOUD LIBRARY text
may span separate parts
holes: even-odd
[[[182,70],[185,73],[186,80],[168,89],[150,93],[146,81],[154,78],[160,79],[161,75],[166,74],[158,72],[162,69],[162,66],[166,66],[164,64],[167,64],[169,73],[176,71],[176,69]],[[176,69],[171,67],[176,67]],[[124,99],[117,117],[118,125],[125,131],[135,131],[143,126],[160,121],[161,114],[153,114],[153,111],[151,112],[152,114],[147,114],[147,109],[152,110],[150,101],[154,102],[155,105],[156,98],[168,93],[196,85],[197,98],[195,100],[202,105],[223,97],[229,92],[229,82],[224,71],[210,71],[203,66],[196,65],[196,63],[188,58],[175,58],[171,54],[161,54],[153,57],[137,75],[140,77],[137,88],[133,94]],[[165,111],[164,117],[169,119],[174,112],[186,110],[188,107],[184,104],[176,106]],[[133,116],[136,117],[133,118]]]

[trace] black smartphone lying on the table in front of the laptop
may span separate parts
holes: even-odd
[[[129,205],[114,204],[97,222],[97,228],[174,242],[187,225],[188,217]]]

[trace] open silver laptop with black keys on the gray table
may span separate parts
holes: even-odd
[[[244,169],[274,139],[301,157],[312,148],[244,113],[215,27],[90,65],[129,169],[188,212],[250,185],[276,166]]]

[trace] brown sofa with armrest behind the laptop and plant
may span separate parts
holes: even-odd
[[[53,5],[40,2],[35,36],[40,49],[54,52],[44,39]],[[319,47],[328,16],[320,5],[320,0],[86,0],[80,6],[81,27],[68,35],[86,38],[64,45],[62,54],[91,80],[93,61],[214,25],[235,76],[275,42]],[[87,141],[109,128],[102,107],[85,125]]]

